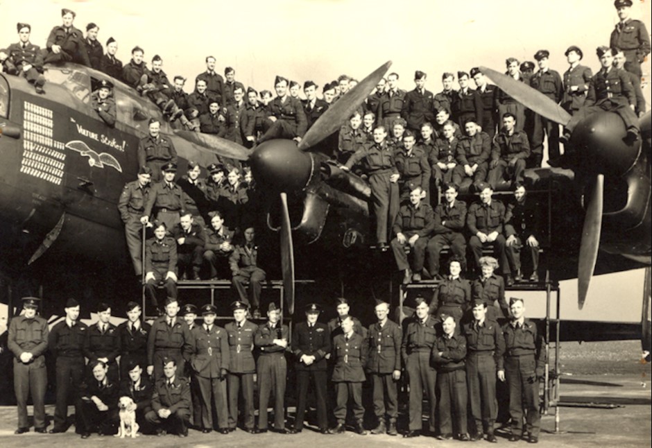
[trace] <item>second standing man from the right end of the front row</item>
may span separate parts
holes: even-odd
[[[501,327],[489,318],[488,309],[485,300],[476,298],[473,301],[473,320],[464,325],[463,336],[466,338],[466,379],[471,421],[474,422],[471,439],[479,440],[486,433],[487,441],[496,443],[496,375],[498,370],[504,370],[505,340]]]

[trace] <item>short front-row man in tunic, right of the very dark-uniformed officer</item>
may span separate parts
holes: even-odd
[[[366,380],[364,368],[367,365],[368,341],[353,331],[353,319],[346,316],[342,320],[342,334],[333,338],[332,358],[334,369],[332,381],[337,395],[334,409],[336,427],[329,433],[340,434],[346,431],[345,422],[349,400],[353,402],[353,415],[356,421],[355,432],[364,436],[364,407],[362,406],[362,384]]]

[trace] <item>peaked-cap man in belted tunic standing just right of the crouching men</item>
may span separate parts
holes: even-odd
[[[211,304],[201,307],[203,324],[191,330],[194,347],[190,356],[193,381],[200,391],[201,424],[196,417],[195,426],[203,433],[213,429],[212,413],[217,415],[217,430],[228,433],[228,402],[226,376],[230,367],[230,350],[225,329],[215,325],[217,308]]]

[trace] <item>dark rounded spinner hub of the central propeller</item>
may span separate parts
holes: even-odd
[[[249,161],[257,184],[275,192],[303,189],[313,171],[311,155],[299,150],[292,140],[265,141]]]

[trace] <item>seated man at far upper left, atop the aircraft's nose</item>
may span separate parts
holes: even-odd
[[[34,85],[37,94],[43,94],[43,58],[40,48],[29,42],[32,27],[29,24],[18,24],[17,28],[19,42],[0,51],[0,64],[8,74],[23,76],[28,83]]]

